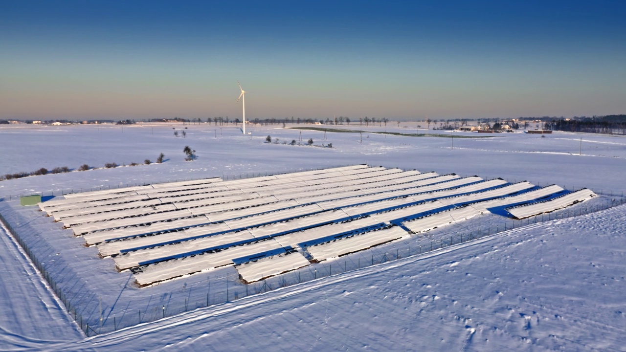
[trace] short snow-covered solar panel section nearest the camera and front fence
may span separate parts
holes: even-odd
[[[310,262],[299,252],[288,252],[278,256],[262,258],[235,266],[242,280],[247,283],[256,282],[265,277],[294,271],[309,265]]]

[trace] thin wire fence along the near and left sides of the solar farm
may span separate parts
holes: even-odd
[[[609,192],[612,194],[612,192]],[[41,259],[31,250],[36,244],[36,237],[30,237],[29,241],[24,241],[23,237],[13,225],[0,214],[0,221],[14,238],[34,267],[39,271],[41,277],[47,282],[48,287],[56,295],[59,301],[70,316],[74,318],[76,324],[81,327],[86,336],[94,334],[116,331],[121,328],[135,326],[136,324],[156,321],[176,314],[191,311],[193,309],[205,308],[216,304],[223,304],[246,298],[255,294],[273,291],[282,287],[294,286],[302,282],[320,279],[332,275],[342,274],[359,270],[364,267],[374,266],[389,261],[396,261],[406,257],[421,256],[423,254],[439,251],[451,246],[475,241],[485,236],[493,236],[500,232],[516,229],[526,225],[536,224],[548,220],[567,219],[578,215],[591,214],[600,210],[608,209],[616,205],[626,203],[624,197],[605,197],[601,202],[594,204],[580,204],[577,207],[568,207],[546,214],[535,215],[522,220],[507,219],[506,217],[492,217],[490,222],[480,225],[473,223],[471,226],[455,227],[447,229],[445,227],[438,231],[431,231],[427,234],[411,236],[409,241],[394,241],[383,246],[372,247],[366,251],[348,254],[346,256],[314,263],[312,265],[287,272],[278,276],[272,276],[259,282],[245,283],[239,279],[235,269],[231,266],[217,274],[213,278],[207,277],[205,282],[199,282],[193,288],[194,294],[190,294],[191,287],[179,291],[169,292],[169,298],[165,302],[148,303],[142,309],[124,309],[123,313],[105,314],[98,299],[93,298],[85,301],[78,299],[78,295],[66,294],[69,284],[65,281],[59,284],[52,273],[58,271],[58,267],[53,264],[44,264]],[[498,220],[493,220],[498,219]],[[63,281],[63,278],[59,278]],[[188,290],[188,291],[186,291]],[[85,296],[85,295],[83,295]],[[74,304],[72,301],[76,301]],[[143,306],[143,303],[133,302],[129,306]],[[97,305],[97,306],[96,306]],[[88,313],[90,312],[90,313]],[[88,313],[86,316],[83,314]]]

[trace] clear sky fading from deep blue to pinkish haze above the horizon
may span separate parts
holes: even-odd
[[[0,118],[626,113],[626,1],[0,1]]]

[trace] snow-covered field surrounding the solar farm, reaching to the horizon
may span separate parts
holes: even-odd
[[[542,187],[558,184],[570,190],[587,187],[603,194],[603,204],[611,200],[611,194],[621,195],[626,190],[622,182],[626,139],[622,137],[554,133],[542,138],[506,133],[452,140],[363,133],[361,143],[359,133],[328,132],[324,139],[324,132],[255,127],[250,138],[239,135],[234,127],[186,127],[186,138],[173,135],[172,128],[184,128],[182,125],[0,128],[0,174],[40,167],[78,168],[83,163],[128,165],[145,158],[154,161],[161,152],[166,159],[162,164],[0,181],[0,198],[4,199],[0,212],[27,241],[37,244],[33,251],[53,267],[58,275],[54,281],[66,288],[69,300],[79,302],[84,310],[81,317],[98,322],[98,311],[105,311],[103,328],[130,326],[81,337],[78,324],[64,313],[63,303],[46,290],[43,279],[3,234],[6,246],[0,258],[8,273],[3,273],[0,297],[9,314],[0,320],[0,341],[6,341],[6,347],[0,343],[0,350],[98,346],[111,350],[166,346],[177,350],[620,350],[626,342],[621,334],[625,326],[621,292],[626,289],[623,205],[566,219],[543,219],[537,224],[522,220],[522,227],[421,256],[415,255],[415,247],[410,252],[410,244],[396,246],[401,259],[361,269],[354,262],[335,261],[331,277],[326,273],[316,280],[310,277],[312,272],[304,272],[301,284],[292,275],[287,287],[257,295],[250,292],[245,298],[242,286],[234,282],[234,270],[223,273],[227,280],[212,274],[202,279],[191,276],[148,287],[155,291],[143,301],[145,308],[130,307],[142,295],[141,289],[129,283],[130,273],[113,271],[110,262],[98,259],[95,248],[81,247],[84,240],[61,230],[38,209],[19,207],[15,196],[34,192],[56,196],[70,190],[208,177],[233,179],[358,163],[442,175],[502,177],[511,183],[528,180]],[[389,126],[386,130],[415,132],[414,128]],[[333,148],[282,144],[300,142],[300,132],[301,143],[313,138],[314,144],[332,143]],[[279,138],[279,143],[264,143],[267,135]],[[197,160],[183,160],[185,145],[196,150]],[[481,224],[483,231],[488,228],[490,232],[491,225],[501,226],[485,219]],[[476,224],[468,227],[475,229]],[[38,242],[38,232],[64,235],[54,243]],[[441,230],[432,236],[443,241],[455,234]],[[76,258],[87,252],[88,259],[78,263],[72,257],[54,257],[61,247],[74,248]],[[372,258],[375,255],[375,262],[381,261],[382,252],[372,253]],[[337,268],[346,265],[347,272]],[[351,266],[357,270],[350,270]],[[76,273],[82,274],[76,277],[87,278],[75,279]],[[4,276],[11,276],[10,281]],[[228,277],[233,286],[215,287],[216,282],[228,282]],[[100,290],[101,281],[109,282],[110,287]],[[276,288],[279,282],[273,285]],[[263,286],[254,287],[265,291]],[[189,311],[206,306],[204,296],[211,304],[223,302],[225,296],[215,295],[225,293],[224,288],[232,303],[155,321],[165,314],[162,307],[169,309],[165,314],[169,316],[177,309],[183,312],[183,304],[188,303]],[[233,289],[239,290],[236,296]],[[128,315],[124,315],[126,311]],[[142,315],[140,325],[137,311]]]

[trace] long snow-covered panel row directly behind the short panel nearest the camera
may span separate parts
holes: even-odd
[[[276,251],[279,249],[281,249],[280,245],[273,239],[256,242],[254,244],[244,244],[243,246],[230,247],[215,253],[151,264],[142,267],[141,272],[136,272],[135,279],[140,286],[145,286],[172,279],[173,277],[234,264],[233,259],[240,257],[254,256],[258,253],[270,252],[272,250]]]

